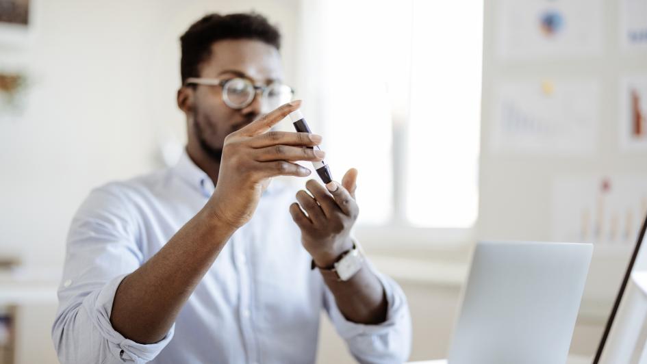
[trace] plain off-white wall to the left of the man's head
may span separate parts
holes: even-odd
[[[0,67],[23,64],[32,83],[25,114],[0,122],[0,253],[58,267],[89,190],[157,168],[159,142],[183,140],[181,33],[251,9],[280,24],[294,79],[296,1],[34,1],[30,42],[0,44]]]

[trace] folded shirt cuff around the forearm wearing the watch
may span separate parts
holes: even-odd
[[[384,293],[388,303],[386,320],[381,324],[375,325],[358,324],[357,322],[346,320],[344,314],[337,307],[332,292],[326,288],[326,294],[329,295],[328,302],[330,302],[330,319],[335,325],[335,328],[337,328],[339,335],[344,339],[352,339],[353,337],[364,335],[372,336],[389,333],[392,330],[404,328],[403,326],[406,326],[409,322],[407,300],[400,286],[390,277],[377,272],[369,261],[366,261],[366,266],[363,269],[370,269],[377,276],[384,288]]]

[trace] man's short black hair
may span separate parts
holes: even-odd
[[[210,57],[212,44],[226,39],[260,40],[277,50],[281,48],[279,29],[268,23],[267,18],[260,14],[249,12],[205,15],[180,37],[182,84],[189,77],[199,77],[199,67]]]

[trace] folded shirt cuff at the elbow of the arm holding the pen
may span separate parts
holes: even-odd
[[[155,356],[160,354],[168,342],[173,339],[175,324],[171,326],[162,340],[150,344],[136,343],[135,341],[126,339],[114,330],[110,323],[112,303],[114,302],[114,294],[125,276],[127,274],[117,276],[103,286],[102,289],[99,289],[99,291],[92,292],[92,294],[84,299],[83,307],[88,311],[94,327],[107,340],[111,354],[122,362],[143,364],[155,359]]]

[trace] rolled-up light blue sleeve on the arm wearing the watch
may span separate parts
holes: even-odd
[[[324,307],[337,333],[359,363],[404,363],[411,351],[411,316],[407,298],[392,278],[377,272],[370,262],[364,269],[372,270],[384,288],[388,302],[385,322],[366,325],[346,320],[327,287]]]

